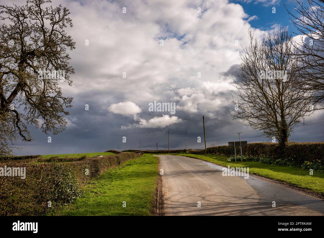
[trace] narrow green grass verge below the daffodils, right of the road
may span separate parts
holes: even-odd
[[[308,169],[297,167],[270,165],[252,161],[228,162],[228,156],[221,155],[193,155],[178,154],[179,156],[188,156],[203,159],[215,164],[227,167],[249,167],[250,174],[260,175],[265,178],[281,181],[300,188],[310,189],[314,192],[324,194],[324,173],[313,171],[313,175],[309,175]],[[239,160],[239,158],[238,158]]]

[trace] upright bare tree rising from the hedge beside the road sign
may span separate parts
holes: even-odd
[[[293,37],[284,28],[264,35],[261,41],[253,40],[249,31],[249,38],[250,46],[240,54],[240,73],[234,80],[239,101],[233,100],[232,117],[276,138],[284,150],[293,125],[311,114],[311,100],[303,99],[305,92],[293,83],[299,80]]]

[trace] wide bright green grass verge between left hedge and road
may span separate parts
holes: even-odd
[[[158,158],[145,154],[91,180],[83,188],[85,194],[59,213],[70,216],[151,215],[157,178]],[[122,206],[123,201],[126,207]]]

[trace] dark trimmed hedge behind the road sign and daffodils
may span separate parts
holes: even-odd
[[[296,166],[302,166],[305,161],[320,160],[324,165],[324,142],[288,142],[286,146],[285,156],[279,152],[279,143],[272,142],[255,142],[242,146],[242,154],[250,156],[268,156],[274,158],[286,157],[286,159],[294,160]],[[216,155],[234,155],[234,147],[214,146],[206,149],[207,154]],[[205,151],[190,150],[191,154],[204,154]],[[240,148],[236,147],[236,154],[240,155]]]

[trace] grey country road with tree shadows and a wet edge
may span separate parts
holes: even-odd
[[[324,201],[280,184],[252,175],[225,177],[222,166],[199,159],[158,157],[164,215],[324,215]]]

